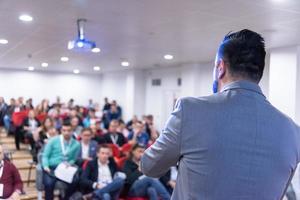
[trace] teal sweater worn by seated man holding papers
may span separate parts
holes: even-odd
[[[80,152],[80,144],[71,138],[67,148],[67,161],[74,164]],[[51,138],[45,146],[42,165],[43,167],[57,167],[63,161],[63,152],[61,148],[60,135]]]

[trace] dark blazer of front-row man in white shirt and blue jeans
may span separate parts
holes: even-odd
[[[109,159],[108,167],[113,178],[118,171],[113,158]],[[83,193],[90,193],[94,190],[93,184],[98,181],[98,159],[94,159],[87,164],[80,179],[80,186]]]

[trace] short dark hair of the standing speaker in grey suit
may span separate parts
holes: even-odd
[[[219,47],[218,55],[229,64],[229,73],[259,82],[265,67],[264,38],[253,31],[244,29],[229,33]]]

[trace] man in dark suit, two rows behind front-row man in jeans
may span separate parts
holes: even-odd
[[[112,120],[109,124],[108,133],[104,135],[104,138],[106,143],[122,147],[127,141],[122,133],[117,132],[118,126],[119,122],[117,120]]]

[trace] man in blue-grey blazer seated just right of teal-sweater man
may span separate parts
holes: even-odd
[[[92,130],[84,128],[81,131],[80,151],[76,163],[82,166],[85,160],[93,160],[97,155],[98,143],[92,140]]]

